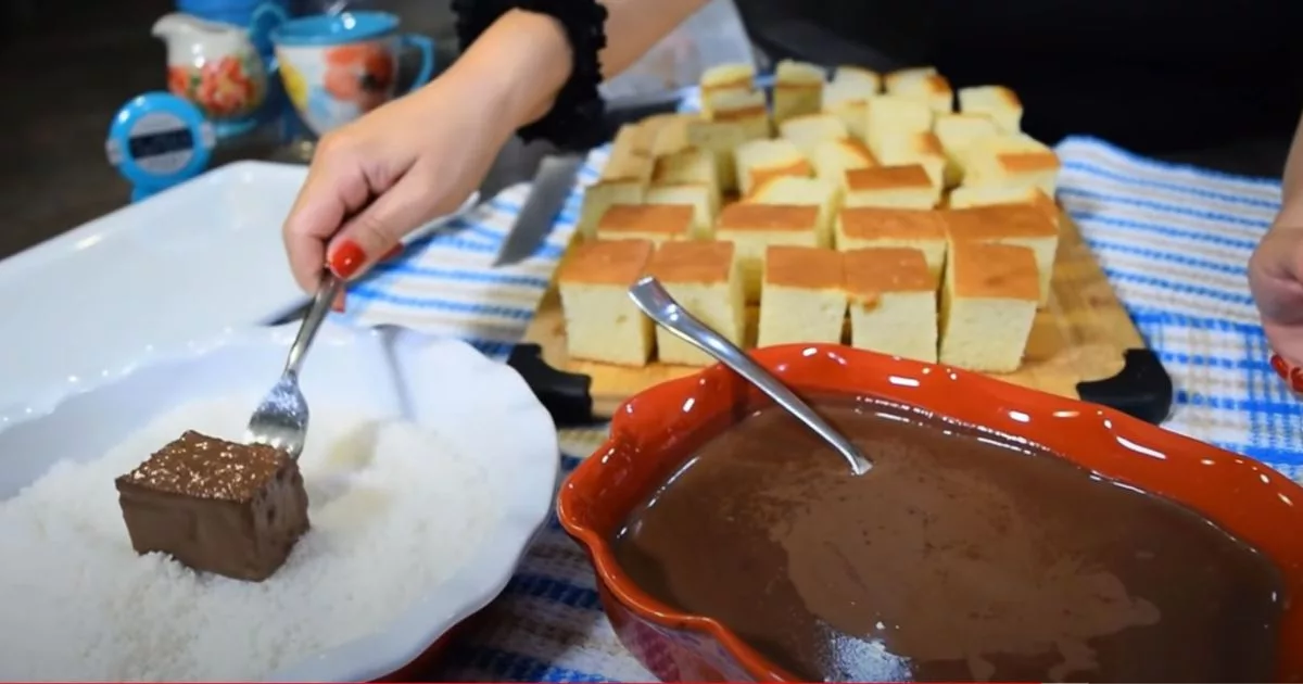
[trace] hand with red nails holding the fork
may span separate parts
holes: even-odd
[[[494,99],[450,72],[324,135],[283,231],[298,285],[315,289],[326,266],[356,278],[455,211],[515,130]]]

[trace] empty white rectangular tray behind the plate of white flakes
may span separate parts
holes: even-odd
[[[301,304],[280,224],[306,175],[228,164],[0,262],[0,410]]]

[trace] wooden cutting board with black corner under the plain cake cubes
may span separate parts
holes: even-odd
[[[1151,422],[1165,418],[1171,405],[1171,380],[1145,349],[1095,254],[1066,215],[1061,218],[1053,291],[1049,306],[1036,315],[1023,366],[997,377],[1110,405]],[[623,367],[569,358],[555,288],[539,304],[524,341],[538,345],[542,361],[551,369],[588,377],[592,414],[598,418],[610,417],[620,403],[648,387],[697,370],[659,362]],[[538,383],[530,384],[538,391]]]

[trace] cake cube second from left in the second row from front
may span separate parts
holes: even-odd
[[[719,212],[715,238],[736,246],[748,302],[760,301],[765,250],[771,245],[817,248],[818,207],[737,202]]]

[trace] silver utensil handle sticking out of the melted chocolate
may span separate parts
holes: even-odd
[[[873,464],[860,453],[860,449],[855,448],[855,444],[850,439],[838,433],[818,413],[814,413],[814,409],[803,401],[801,397],[796,396],[796,392],[792,392],[791,388],[761,367],[760,363],[752,361],[737,345],[726,340],[714,330],[710,330],[709,326],[679,306],[679,302],[674,301],[674,297],[666,292],[665,287],[655,278],[646,276],[635,283],[629,288],[629,298],[655,324],[713,356],[721,363],[732,369],[734,373],[741,375],[743,379],[760,388],[761,392],[769,395],[783,410],[791,413],[796,420],[813,430],[814,434],[823,438],[823,442],[827,442],[830,447],[846,459],[853,474],[861,476],[873,468]]]

